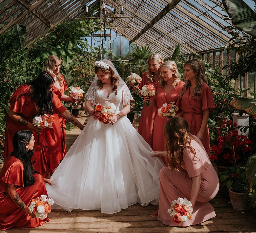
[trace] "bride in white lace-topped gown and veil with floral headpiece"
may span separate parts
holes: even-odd
[[[134,129],[126,114],[133,100],[109,60],[95,62],[95,78],[85,95],[88,123],[46,184],[56,209],[116,213],[130,205],[158,205],[161,159]],[[115,115],[101,123],[93,104],[116,106]]]

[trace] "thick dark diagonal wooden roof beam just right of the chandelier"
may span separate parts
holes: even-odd
[[[137,40],[144,32],[151,28],[156,22],[163,18],[171,9],[173,9],[181,0],[172,0],[154,19],[152,19],[133,39],[129,44]]]

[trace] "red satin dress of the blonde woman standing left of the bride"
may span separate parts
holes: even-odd
[[[58,98],[61,100],[61,96],[68,89],[66,81],[64,77],[61,75],[62,86],[60,86],[60,90],[54,86],[53,93],[55,93]],[[52,128],[46,128],[46,142],[48,144],[48,168],[52,173],[55,168],[60,164],[61,160],[67,153],[66,147],[66,123],[65,119],[61,117],[59,114],[54,113],[53,117],[53,126]]]

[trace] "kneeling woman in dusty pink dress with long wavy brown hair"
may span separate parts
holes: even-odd
[[[215,217],[208,201],[217,194],[219,179],[201,141],[189,133],[188,123],[182,117],[168,120],[164,134],[168,152],[162,155],[165,154],[170,162],[169,167],[162,168],[159,173],[159,207],[151,216],[157,217],[165,225],[180,227],[200,224]],[[191,201],[192,220],[176,223],[167,212],[172,201],[179,197]]]

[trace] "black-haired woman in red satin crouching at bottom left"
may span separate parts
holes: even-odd
[[[32,168],[34,142],[29,130],[14,134],[14,151],[0,172],[0,230],[37,227],[49,221],[35,218],[28,210],[32,199],[47,195],[45,182],[50,184],[49,179],[34,173]]]

